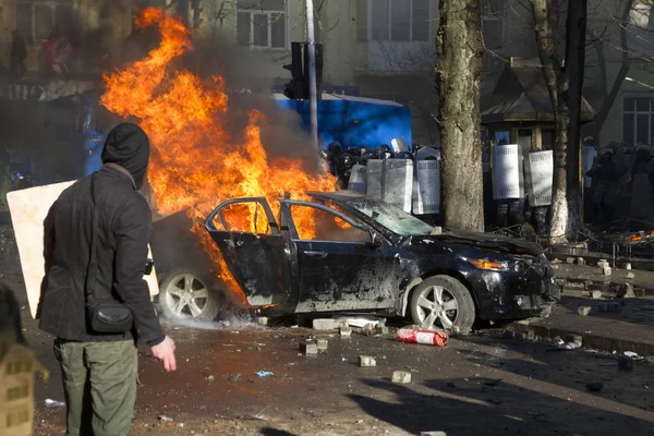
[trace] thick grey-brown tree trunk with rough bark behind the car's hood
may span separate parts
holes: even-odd
[[[484,230],[480,92],[484,45],[479,0],[439,0],[436,85],[445,226]]]

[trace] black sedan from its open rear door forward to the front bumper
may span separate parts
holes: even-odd
[[[307,197],[280,198],[279,217],[263,197],[234,198],[207,218],[206,229],[251,305],[410,313],[423,327],[468,330],[475,319],[537,315],[559,298],[536,244],[482,233],[432,234],[431,226],[401,209],[347,191]]]

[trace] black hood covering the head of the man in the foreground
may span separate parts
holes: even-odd
[[[130,171],[136,189],[140,190],[147,172],[149,141],[136,124],[120,123],[111,129],[105,141],[102,162],[116,164]]]

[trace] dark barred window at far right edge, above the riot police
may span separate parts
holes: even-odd
[[[626,97],[622,108],[622,142],[654,144],[654,97]]]

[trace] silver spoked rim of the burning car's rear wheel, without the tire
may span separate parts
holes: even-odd
[[[202,280],[192,274],[173,277],[166,288],[166,305],[175,316],[196,318],[209,302],[209,292]]]

